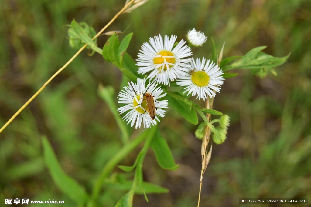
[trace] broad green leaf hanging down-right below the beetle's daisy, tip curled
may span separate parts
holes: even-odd
[[[179,164],[175,164],[175,160],[173,158],[172,152],[169,149],[169,145],[166,140],[161,137],[159,130],[156,132],[155,137],[153,138],[150,147],[154,151],[156,155],[156,160],[161,168],[166,170],[177,170]]]

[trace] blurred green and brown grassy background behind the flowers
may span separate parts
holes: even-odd
[[[0,1],[0,125],[76,52],[67,40],[66,25],[72,19],[99,31],[124,2]],[[236,70],[239,76],[227,79],[217,94],[214,108],[230,115],[231,126],[226,142],[213,146],[201,206],[240,206],[240,197],[309,197],[311,202],[311,1],[150,0],[120,16],[108,30],[127,27],[119,36],[134,32],[128,48],[134,59],[149,37],[176,34],[180,40],[193,27],[209,37],[202,48],[193,50],[194,57],[211,57],[210,37],[218,52],[225,42],[224,57],[244,55],[262,45],[273,56],[291,52],[277,68],[277,77],[259,79],[249,70]],[[99,47],[108,38],[99,37]],[[42,158],[41,135],[48,137],[64,171],[91,192],[104,164],[122,146],[121,133],[98,97],[97,86],[112,85],[118,92],[121,81],[121,72],[111,63],[84,51],[17,116],[0,134],[0,206],[5,198],[76,205],[53,183]],[[196,206],[201,171],[197,126],[168,109],[159,127],[180,167],[174,172],[161,169],[149,151],[144,180],[170,192],[148,195],[149,203],[137,195],[133,205]],[[131,165],[138,151],[121,164]],[[114,206],[125,193],[104,190],[104,207]]]

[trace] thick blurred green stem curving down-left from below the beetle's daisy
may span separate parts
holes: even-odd
[[[133,151],[133,149],[135,149],[140,143],[145,140],[147,134],[149,134],[149,130],[145,130],[143,133],[138,135],[132,142],[124,145],[122,149],[119,150],[117,154],[114,155],[114,157],[109,160],[109,162],[104,166],[103,170],[100,173],[100,177],[97,179],[93,187],[89,206],[95,206],[96,200],[100,193],[100,188],[102,187],[103,182],[105,178],[109,175],[109,173],[121,160],[123,160],[130,152]]]

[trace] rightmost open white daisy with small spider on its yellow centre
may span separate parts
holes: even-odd
[[[211,98],[215,97],[216,93],[214,91],[220,92],[220,85],[224,84],[225,80],[221,76],[223,72],[218,65],[213,61],[210,64],[210,60],[207,60],[206,63],[205,61],[204,57],[202,62],[199,58],[196,61],[192,58],[189,74],[177,80],[177,85],[187,86],[185,92],[188,91],[188,95],[192,93],[192,96],[197,94],[199,100],[201,98],[205,100],[207,98],[206,94]]]

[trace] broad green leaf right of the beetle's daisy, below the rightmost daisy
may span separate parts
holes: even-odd
[[[166,96],[166,99],[169,102],[169,106],[172,106],[188,122],[190,122],[191,124],[197,125],[198,119],[197,119],[197,113],[195,112],[195,110],[193,110],[192,108],[191,110],[189,110],[189,104],[181,101],[180,99],[175,99],[176,96],[172,94],[174,93],[170,92]]]

